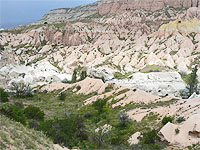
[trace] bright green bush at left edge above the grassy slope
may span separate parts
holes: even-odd
[[[19,106],[10,104],[3,105],[0,108],[0,113],[7,116],[10,119],[22,123],[23,125],[26,124],[26,117],[24,111]]]

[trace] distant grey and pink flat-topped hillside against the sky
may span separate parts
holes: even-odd
[[[36,24],[74,21],[97,15],[121,14],[130,10],[159,11],[167,6],[176,9],[198,7],[199,0],[100,0],[74,8],[49,11]]]

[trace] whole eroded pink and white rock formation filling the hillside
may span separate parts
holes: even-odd
[[[33,80],[30,81],[33,84],[50,82],[51,77],[53,81],[61,81],[63,75],[69,79],[68,75],[80,66],[87,68],[88,74],[94,78],[104,77],[107,81],[160,96],[178,95],[178,91],[185,85],[180,75],[174,72],[189,73],[193,65],[200,63],[200,22],[198,18],[194,18],[195,14],[189,14],[189,10],[185,9],[190,5],[196,6],[197,1],[167,0],[163,4],[164,1],[161,0],[156,3],[159,10],[154,10],[157,8],[154,6],[157,1],[146,0],[144,5],[134,2],[138,1],[102,1],[73,9],[57,9],[49,12],[46,20],[41,21],[56,20],[58,14],[72,15],[79,9],[87,12],[87,7],[92,12],[98,4],[98,10],[101,5],[105,4],[103,8],[107,9],[111,4],[117,6],[118,3],[123,9],[127,3],[135,8],[117,15],[92,15],[84,18],[85,20],[75,17],[73,21],[66,21],[61,17],[61,23],[38,22],[42,24],[0,33],[0,45],[4,49],[0,52],[0,69],[3,67],[0,72],[1,86],[5,86],[14,77],[27,81],[26,77],[32,76]],[[171,5],[175,8],[169,7]],[[179,8],[180,6],[183,8]],[[121,8],[117,10],[121,11]],[[112,12],[115,13],[114,9]],[[194,19],[185,20],[186,16]],[[30,72],[34,72],[33,68],[37,70],[37,66],[44,64],[43,62],[48,62],[47,71],[41,71],[45,76],[32,75]],[[11,73],[14,66],[20,68],[21,65],[32,68],[23,72],[23,78],[19,76],[20,73]],[[50,69],[53,71],[49,71]],[[150,72],[163,73],[160,76],[159,73]],[[169,72],[173,72],[173,75],[169,75]],[[118,79],[116,74],[119,73],[121,77]],[[7,76],[8,74],[13,76]]]

